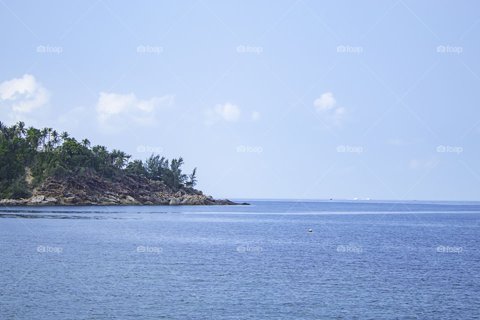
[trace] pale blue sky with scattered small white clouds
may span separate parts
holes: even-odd
[[[479,200],[477,1],[0,0],[0,120],[215,198]]]

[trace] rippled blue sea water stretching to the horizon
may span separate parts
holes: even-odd
[[[248,202],[0,207],[0,319],[480,317],[480,202]]]

